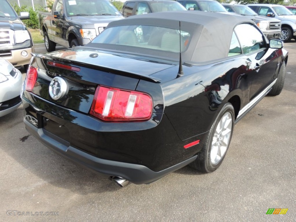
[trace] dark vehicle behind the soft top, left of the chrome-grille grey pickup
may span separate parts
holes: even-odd
[[[178,0],[187,10],[197,10],[205,12],[226,12],[226,9],[214,0]]]

